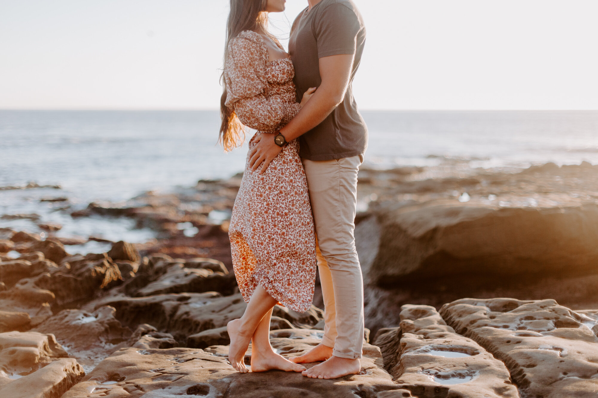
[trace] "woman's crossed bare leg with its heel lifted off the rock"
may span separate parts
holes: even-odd
[[[245,313],[239,319],[234,319],[228,322],[227,331],[230,336],[230,347],[228,348],[228,362],[237,369],[237,371],[246,373],[249,372],[243,362],[243,357],[249,347],[251,337],[255,333],[258,324],[264,318],[272,307],[276,305],[277,300],[274,299],[266,289],[258,285],[254,294],[249,299]],[[268,317],[270,323],[270,317]]]

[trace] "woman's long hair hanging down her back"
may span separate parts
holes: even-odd
[[[224,45],[224,66],[228,59],[228,43],[243,30],[261,30],[267,32],[268,14],[266,4],[268,0],[230,0],[230,13],[227,20],[226,42]],[[243,144],[245,130],[243,124],[234,111],[224,105],[227,96],[224,68],[220,76],[223,92],[220,97],[220,134],[218,142],[222,143],[225,151],[231,151]]]

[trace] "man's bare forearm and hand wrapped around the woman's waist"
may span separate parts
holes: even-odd
[[[294,140],[312,130],[343,102],[353,67],[353,54],[340,54],[319,59],[322,83],[313,97],[292,120],[280,129],[287,141]],[[264,133],[255,139],[257,145],[249,152],[249,167],[255,171],[261,166],[263,174],[270,162],[282,151],[274,143],[274,134]]]

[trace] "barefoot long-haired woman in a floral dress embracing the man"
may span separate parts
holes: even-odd
[[[227,150],[240,144],[242,124],[258,130],[250,149],[261,134],[273,136],[315,91],[310,88],[296,102],[291,59],[267,32],[267,13],[284,10],[285,0],[230,2],[220,129]],[[253,372],[304,371],[274,353],[269,339],[274,305],[304,312],[313,299],[316,238],[298,142],[284,146],[264,174],[252,172],[248,158],[228,234],[234,274],[248,302],[243,317],[227,324],[228,360],[248,372],[243,357],[251,341]]]

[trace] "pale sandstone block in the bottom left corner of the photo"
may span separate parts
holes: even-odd
[[[50,363],[39,371],[11,381],[0,388],[2,397],[60,398],[85,375],[72,358]]]

